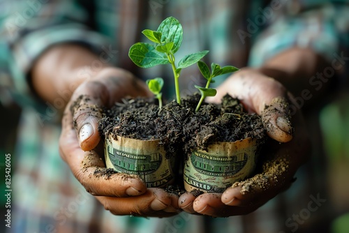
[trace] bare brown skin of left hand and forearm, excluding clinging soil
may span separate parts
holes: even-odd
[[[80,95],[91,97],[87,103],[91,107],[111,106],[114,101],[124,96],[150,95],[146,85],[135,79],[131,73],[107,65],[97,72],[91,70],[91,77],[88,79],[81,79],[80,71],[84,66],[90,66],[95,59],[98,57],[84,47],[58,45],[47,50],[32,70],[34,89],[44,100],[53,103],[55,98],[60,98],[60,91],[73,89],[62,118],[59,139],[61,157],[68,163],[84,188],[95,195],[105,209],[114,214],[170,216],[177,213],[178,197],[165,193],[160,188],[147,189],[137,177],[123,179],[121,174],[113,174],[110,179],[105,179],[104,176],[90,176],[96,167],[105,167],[99,159],[103,154],[90,151],[100,142],[98,117],[89,116],[89,107],[86,105],[77,108],[72,116],[70,105]],[[73,87],[70,87],[70,84],[73,84]],[[73,121],[76,121],[76,127],[73,126]],[[84,142],[79,142],[80,128],[86,122],[93,126],[94,134]],[[91,163],[86,168],[82,161],[87,156],[91,158]]]

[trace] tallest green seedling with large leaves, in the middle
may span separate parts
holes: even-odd
[[[176,64],[174,54],[181,46],[183,29],[179,21],[174,17],[168,17],[163,20],[157,31],[146,29],[142,31],[142,33],[151,40],[152,44],[135,43],[131,46],[128,56],[133,63],[142,68],[170,64],[174,76],[177,103],[181,104],[181,97],[179,94],[179,76],[181,70],[200,61],[209,51],[204,50],[188,54]]]

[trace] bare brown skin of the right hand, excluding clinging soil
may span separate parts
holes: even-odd
[[[256,112],[262,118],[267,115],[265,105],[273,105],[278,110],[283,110],[279,103],[273,103],[275,98],[290,98],[285,88],[276,80],[265,77],[256,70],[244,69],[239,73],[232,75],[226,80],[220,88],[218,88],[217,98],[212,101],[219,101],[223,93],[230,93],[242,100],[244,106],[250,112]],[[266,146],[268,151],[266,156],[269,158],[277,158],[284,154],[291,156],[290,166],[288,170],[281,174],[275,172],[269,179],[268,187],[262,188],[255,186],[253,192],[242,194],[242,186],[231,187],[225,190],[223,194],[205,193],[199,197],[194,197],[191,193],[185,193],[179,197],[179,206],[188,213],[200,213],[214,217],[227,217],[251,213],[258,207],[265,204],[268,200],[275,197],[281,191],[287,189],[291,183],[298,167],[306,162],[309,158],[309,136],[306,133],[306,127],[302,121],[302,115],[297,112],[292,116],[291,123],[295,128],[295,132],[291,135],[290,125],[287,123],[276,123],[278,117],[285,117],[285,111],[274,112],[268,118],[270,123],[267,128],[269,137],[276,141],[269,142]],[[264,123],[264,122],[263,122]],[[265,124],[266,126],[266,124]],[[280,127],[281,126],[281,127]],[[286,142],[279,144],[279,142]]]

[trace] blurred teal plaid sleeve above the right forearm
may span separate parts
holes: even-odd
[[[310,47],[331,62],[344,48],[348,50],[348,1],[280,1],[267,13],[272,22],[251,48],[250,66],[261,66],[267,59],[290,47]]]

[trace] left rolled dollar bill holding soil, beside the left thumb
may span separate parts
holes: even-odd
[[[110,134],[105,139],[105,163],[117,172],[135,174],[147,188],[164,187],[174,181],[174,156],[166,156],[159,140],[135,140]]]

